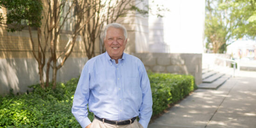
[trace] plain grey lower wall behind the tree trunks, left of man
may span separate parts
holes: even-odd
[[[77,78],[82,71],[87,57],[69,57],[64,66],[57,72],[57,81],[66,82],[71,78]],[[46,67],[44,68],[44,73]],[[50,71],[50,80],[52,79]],[[44,75],[46,80],[46,75]],[[0,59],[0,95],[13,93],[25,93],[31,90],[28,86],[39,83],[38,64],[34,58],[10,58]]]

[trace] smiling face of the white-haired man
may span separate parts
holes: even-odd
[[[111,59],[121,59],[121,56],[126,46],[126,42],[127,39],[125,39],[123,35],[123,30],[121,28],[108,28],[104,44]]]

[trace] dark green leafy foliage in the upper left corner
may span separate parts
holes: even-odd
[[[0,13],[0,24],[8,25],[8,31],[21,31],[26,26],[41,26],[41,0],[0,0],[0,6],[7,9],[6,16]]]

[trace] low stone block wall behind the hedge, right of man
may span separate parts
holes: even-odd
[[[146,70],[158,73],[191,74],[202,83],[202,54],[135,53]]]

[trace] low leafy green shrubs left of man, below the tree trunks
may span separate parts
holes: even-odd
[[[55,90],[43,90],[37,84],[31,86],[34,90],[29,94],[1,97],[0,127],[79,128],[71,114],[77,82],[58,83]]]

